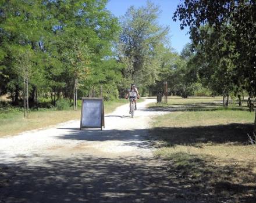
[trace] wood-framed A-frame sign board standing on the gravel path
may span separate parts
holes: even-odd
[[[104,105],[102,98],[82,98],[82,128],[101,128],[104,126]]]

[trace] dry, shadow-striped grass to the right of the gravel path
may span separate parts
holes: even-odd
[[[155,156],[169,161],[170,178],[191,201],[256,202],[256,146],[247,136],[254,113],[245,104],[223,108],[221,102],[170,97],[168,104],[151,104],[167,112],[152,122]]]

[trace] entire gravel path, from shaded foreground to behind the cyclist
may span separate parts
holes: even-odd
[[[152,155],[150,119],[163,112],[138,103],[105,115],[106,128],[80,121],[0,139],[0,202],[184,202],[167,163]],[[189,201],[191,202],[191,201]]]

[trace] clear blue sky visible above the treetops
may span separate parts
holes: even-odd
[[[169,26],[170,28],[170,44],[177,52],[181,52],[184,45],[190,42],[189,28],[185,27],[180,30],[180,22],[172,20],[173,13],[175,12],[180,0],[151,0],[155,5],[159,6],[162,10],[159,16],[159,24],[162,26]],[[130,6],[139,8],[147,5],[147,0],[109,0],[106,8],[112,12],[116,17],[120,17],[126,13]]]

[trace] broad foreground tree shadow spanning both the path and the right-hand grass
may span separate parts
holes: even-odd
[[[83,154],[40,164],[1,164],[0,202],[255,202],[255,186],[232,183],[250,168],[209,164],[212,157],[96,158]],[[183,164],[180,164],[180,163]],[[196,167],[195,167],[196,166]],[[247,170],[247,171],[246,171]],[[250,194],[250,195],[248,195]]]

